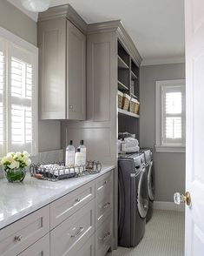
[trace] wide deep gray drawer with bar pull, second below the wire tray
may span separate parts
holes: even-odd
[[[94,232],[95,200],[92,200],[51,231],[51,256],[68,256],[76,253]]]

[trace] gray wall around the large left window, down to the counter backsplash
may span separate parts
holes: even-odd
[[[0,26],[36,45],[36,23],[6,0],[0,0]],[[38,133],[39,152],[61,148],[60,121],[39,121]]]

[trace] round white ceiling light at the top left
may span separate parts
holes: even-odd
[[[49,9],[50,0],[21,0],[26,10],[42,12]]]

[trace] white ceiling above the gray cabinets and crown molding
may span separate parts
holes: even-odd
[[[121,19],[145,64],[184,59],[184,0],[51,0],[63,3],[88,24]]]

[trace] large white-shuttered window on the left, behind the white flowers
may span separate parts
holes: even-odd
[[[37,48],[0,28],[0,156],[37,152]]]

